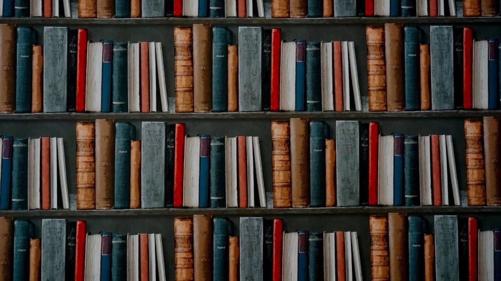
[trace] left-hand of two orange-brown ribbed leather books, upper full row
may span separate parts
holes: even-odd
[[[176,112],[193,112],[191,27],[174,26],[174,84]]]

